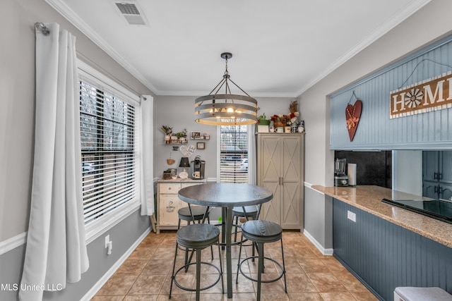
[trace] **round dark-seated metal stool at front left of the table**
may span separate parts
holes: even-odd
[[[201,290],[207,290],[208,288],[212,288],[213,285],[217,284],[218,281],[220,280],[222,293],[223,294],[225,293],[225,287],[223,285],[223,276],[222,276],[223,271],[221,263],[221,252],[220,245],[218,244],[219,238],[220,230],[217,227],[210,225],[210,223],[194,223],[189,226],[182,227],[177,231],[176,252],[174,253],[174,262],[172,266],[171,285],[169,287],[169,299],[171,299],[173,283],[182,290],[189,290],[192,292],[196,291],[196,301],[199,300]],[[184,266],[179,268],[174,273],[176,269],[177,249],[179,245],[185,248],[193,249],[196,252],[196,262],[186,263]],[[220,255],[219,257],[220,269],[218,269],[218,266],[215,266],[210,262],[201,262],[201,250],[205,249],[206,247],[211,247],[213,245],[218,245],[218,254]],[[179,271],[187,269],[187,267],[192,264],[196,264],[196,288],[186,288],[177,282],[176,276],[179,273]],[[203,288],[201,288],[201,264],[213,266],[218,271],[218,278],[215,280],[215,282]]]

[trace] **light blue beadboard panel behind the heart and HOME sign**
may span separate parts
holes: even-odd
[[[451,53],[452,37],[446,37],[332,94],[330,148],[452,149],[452,108],[446,104],[451,102],[448,78],[452,78],[452,56],[444,55]],[[433,81],[427,88],[427,82],[422,83],[441,76],[446,79]],[[420,85],[420,89],[411,90],[412,85]],[[362,113],[359,120],[347,123],[347,105],[353,106],[357,99],[362,102]],[[396,103],[391,102],[394,99]],[[435,106],[427,107],[426,103],[431,102]],[[444,105],[439,107],[441,104]],[[393,113],[394,106],[398,116]],[[408,112],[409,109],[417,111]],[[348,132],[353,127],[356,132],[350,141]]]

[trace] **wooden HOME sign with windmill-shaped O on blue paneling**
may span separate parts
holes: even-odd
[[[391,92],[390,104],[391,119],[451,108],[452,71]]]

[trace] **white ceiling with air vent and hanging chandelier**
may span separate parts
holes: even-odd
[[[297,97],[429,0],[46,0],[157,95],[208,94],[225,72],[252,97]],[[234,90],[233,90],[234,92]]]

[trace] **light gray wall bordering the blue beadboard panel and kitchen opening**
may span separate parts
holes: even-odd
[[[300,95],[299,106],[305,116],[307,130],[305,180],[308,183],[333,185],[334,156],[333,151],[329,149],[330,103],[328,95],[449,35],[452,30],[452,19],[449,16],[451,10],[451,1],[429,2],[420,11],[404,20],[403,23]]]

